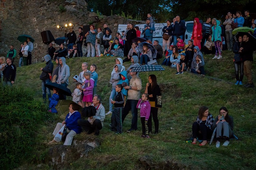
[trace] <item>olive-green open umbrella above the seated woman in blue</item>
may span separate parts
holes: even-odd
[[[59,102],[55,106],[55,108],[58,111],[58,114],[62,119],[65,119],[67,114],[69,113],[69,104],[70,103],[72,103],[72,105],[73,104],[77,105],[80,108],[78,111],[80,111],[80,113],[81,113],[82,107],[79,104],[75,103],[74,101],[72,101],[72,100],[59,100]]]

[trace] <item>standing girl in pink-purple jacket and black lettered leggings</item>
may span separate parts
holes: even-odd
[[[137,108],[140,109],[140,119],[142,124],[142,136],[143,138],[149,138],[148,136],[148,118],[150,116],[150,103],[148,101],[149,95],[143,94],[139,99]]]

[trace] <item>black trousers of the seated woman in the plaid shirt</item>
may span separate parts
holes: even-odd
[[[207,140],[207,139],[211,139],[212,137],[212,130],[203,123],[198,125],[197,122],[194,122],[192,125],[192,133],[193,133],[193,138],[198,137],[198,139],[200,140]]]

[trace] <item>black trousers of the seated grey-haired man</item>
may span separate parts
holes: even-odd
[[[81,126],[85,131],[95,131],[95,133],[99,133],[99,130],[102,129],[102,124],[99,119],[95,119],[93,124],[90,124],[88,120],[78,119],[78,125]]]

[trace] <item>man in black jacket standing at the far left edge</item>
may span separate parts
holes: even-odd
[[[12,57],[7,58],[6,64],[3,70],[3,85],[12,86],[16,78],[16,66],[12,64]]]

